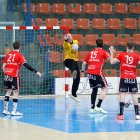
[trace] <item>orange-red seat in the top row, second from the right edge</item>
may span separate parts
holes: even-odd
[[[126,14],[128,13],[128,7],[126,3],[115,3],[114,6],[115,13]]]

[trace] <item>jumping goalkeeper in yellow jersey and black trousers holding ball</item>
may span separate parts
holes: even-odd
[[[69,33],[64,36],[64,40],[65,40],[63,43],[63,48],[65,52],[64,65],[70,69],[73,76],[72,95],[70,95],[70,98],[75,100],[76,102],[79,102],[76,94],[80,82],[80,69],[77,63],[78,41],[73,40],[71,34]]]

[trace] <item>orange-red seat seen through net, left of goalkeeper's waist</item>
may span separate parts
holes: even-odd
[[[60,53],[55,51],[50,51],[50,62],[59,63],[60,61]]]

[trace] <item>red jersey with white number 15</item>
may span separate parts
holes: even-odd
[[[102,75],[102,67],[108,58],[109,53],[102,48],[95,48],[89,52],[84,60],[88,64],[87,73]]]

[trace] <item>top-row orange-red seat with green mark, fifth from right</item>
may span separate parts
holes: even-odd
[[[73,13],[73,14],[81,14],[81,12],[82,12],[81,4],[80,3],[69,3],[68,11],[69,11],[69,13]]]

